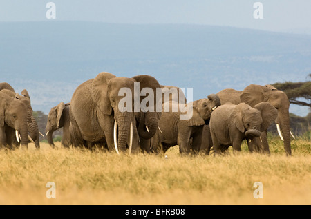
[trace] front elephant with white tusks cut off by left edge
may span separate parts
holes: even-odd
[[[11,149],[19,143],[22,147],[28,146],[27,117],[26,105],[23,102],[0,92],[0,144],[2,146],[8,145]]]

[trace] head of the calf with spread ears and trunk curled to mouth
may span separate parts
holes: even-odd
[[[241,103],[236,105],[231,115],[233,124],[238,131],[245,133],[246,137],[260,137],[261,132],[265,131],[276,119],[277,111],[268,102],[261,102],[253,107]]]

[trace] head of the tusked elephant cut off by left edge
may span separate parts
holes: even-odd
[[[3,131],[5,124],[13,128],[17,142],[21,140],[21,146],[28,144],[27,111],[26,106],[18,99],[0,92],[0,129]],[[3,127],[3,128],[1,128]],[[3,131],[4,132],[4,131]],[[5,135],[5,133],[1,133]]]

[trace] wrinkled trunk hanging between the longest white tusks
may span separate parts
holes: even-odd
[[[126,143],[129,140],[132,116],[129,112],[120,113],[117,116],[117,147],[120,151],[125,151]]]

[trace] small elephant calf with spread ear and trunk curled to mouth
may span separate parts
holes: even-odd
[[[241,151],[241,143],[247,139],[249,151],[258,151],[258,138],[277,117],[277,110],[268,102],[261,102],[252,108],[241,103],[226,103],[211,114],[209,128],[215,154],[232,146],[234,151]],[[251,143],[252,142],[252,143]],[[257,146],[258,147],[258,146]]]

